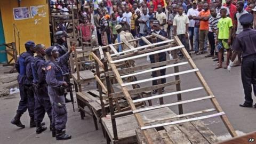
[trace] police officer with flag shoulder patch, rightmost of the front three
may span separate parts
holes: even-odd
[[[68,59],[68,54],[74,50],[70,50],[67,54],[58,58],[58,48],[51,46],[46,49],[46,83],[48,84],[48,94],[52,103],[52,125],[55,126],[56,140],[71,139],[71,135],[66,134],[65,128],[67,123],[67,108],[65,106],[65,97],[63,86],[68,86],[64,81],[63,71],[57,64],[58,61],[64,61]],[[56,61],[56,59],[58,59]],[[52,131],[54,133],[54,131]]]

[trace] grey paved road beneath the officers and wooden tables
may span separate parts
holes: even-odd
[[[209,84],[211,90],[213,91],[215,97],[219,101],[222,109],[227,114],[231,124],[233,124],[235,130],[242,132],[252,132],[255,131],[256,119],[254,108],[242,108],[239,107],[239,103],[244,101],[243,87],[241,82],[241,71],[240,67],[235,67],[232,69],[231,73],[228,73],[226,69],[214,70],[215,62],[211,58],[203,58],[201,56],[193,55],[193,59],[199,70],[201,71],[203,77],[205,78],[207,84]],[[140,63],[142,60],[137,61]],[[183,66],[180,70],[188,70],[189,66]],[[173,73],[170,68],[167,73]],[[138,79],[151,77],[150,74],[138,76]],[[173,78],[167,79],[167,81],[172,81]],[[149,85],[150,83],[147,83]],[[181,75],[181,89],[189,89],[193,87],[200,86],[195,74],[185,74]],[[165,92],[174,91],[174,87],[166,87]],[[182,98],[192,99],[197,97],[206,96],[204,91],[196,91],[189,94],[182,94]],[[255,97],[253,97],[255,101]],[[175,96],[170,98],[164,98],[167,102],[173,102],[176,100]],[[73,112],[71,103],[68,103],[68,123],[67,123],[67,133],[72,134],[72,139],[67,141],[55,141],[51,138],[51,133],[46,130],[42,134],[36,134],[35,129],[28,128],[29,117],[28,113],[22,116],[21,121],[26,125],[25,129],[17,129],[14,125],[10,124],[12,117],[14,116],[15,110],[17,108],[17,103],[19,101],[19,94],[14,94],[9,97],[0,98],[0,139],[1,143],[106,143],[105,138],[103,138],[102,131],[95,131],[92,118],[86,116],[84,120],[81,120],[78,110]],[[157,102],[157,101],[154,101]],[[77,105],[75,106],[77,108]],[[177,113],[177,107],[170,107],[175,113]],[[210,100],[189,103],[183,106],[184,112],[188,113],[195,110],[203,110],[213,108]],[[46,117],[46,125],[49,126],[49,119]],[[210,129],[217,135],[224,135],[228,131],[225,129],[225,125],[221,122],[220,118],[206,119],[204,121]],[[99,125],[100,127],[100,125]]]

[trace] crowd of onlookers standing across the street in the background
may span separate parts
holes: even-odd
[[[230,48],[236,35],[242,31],[239,17],[254,12],[256,14],[255,1],[252,0],[94,0],[83,2],[80,19],[81,25],[87,26],[87,31],[97,30],[99,45],[122,41],[118,38],[120,34],[117,33],[117,25],[121,25],[125,33],[131,33],[133,38],[138,38],[149,35],[154,30],[153,22],[157,20],[168,38],[172,39],[177,35],[189,53],[209,53],[205,57],[212,57],[214,61],[218,61],[218,69],[222,68],[225,52],[227,60],[223,67],[228,66]],[[252,27],[254,28],[254,25]],[[87,38],[84,38],[84,41],[90,41],[91,33],[83,35],[86,34]],[[144,44],[140,41],[138,45]],[[241,65],[240,57],[241,54],[238,53],[238,60],[234,66]]]

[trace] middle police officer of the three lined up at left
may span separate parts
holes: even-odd
[[[45,81],[45,46],[43,44],[37,44],[35,47],[36,58],[35,62],[32,63],[31,69],[33,72],[33,85],[35,92],[35,122],[36,122],[36,133],[41,133],[47,129],[46,126],[42,126],[45,112],[52,121],[52,106],[47,91],[47,84]],[[53,126],[50,125],[50,130]]]

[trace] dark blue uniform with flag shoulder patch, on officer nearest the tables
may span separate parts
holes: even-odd
[[[49,61],[46,67],[46,83],[48,86],[48,94],[52,103],[52,125],[55,125],[56,130],[63,130],[67,123],[67,108],[65,106],[64,95],[58,95],[57,87],[64,83],[63,71],[58,63],[67,61],[69,53],[66,53],[58,59],[57,62]]]

